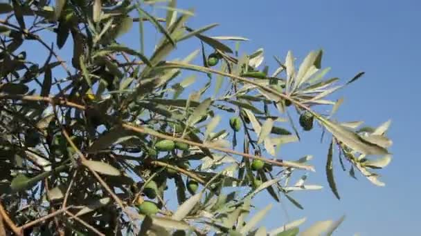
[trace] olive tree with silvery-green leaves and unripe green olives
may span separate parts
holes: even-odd
[[[279,158],[310,131],[338,199],[339,164],[384,185],[390,121],[335,119],[330,95],[364,72],[326,77],[322,50],[299,66],[270,55],[271,70],[248,39],[190,28],[174,0],[10,0],[0,14],[0,235],[330,235],[343,218],[266,229],[272,204],[253,204],[303,208],[293,193],[321,188],[305,183],[311,155]]]

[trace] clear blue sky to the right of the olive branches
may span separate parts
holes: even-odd
[[[285,208],[290,219],[307,217],[308,222],[346,214],[337,235],[421,235],[421,161],[415,151],[421,131],[417,117],[421,86],[420,1],[213,0],[179,1],[179,6],[195,6],[191,26],[221,23],[208,35],[252,39],[242,48],[252,52],[263,47],[269,61],[273,55],[285,58],[287,50],[301,61],[310,50],[323,48],[323,66],[332,67],[330,76],[346,81],[365,71],[364,78],[339,92],[345,102],[337,117],[341,121],[364,120],[373,126],[392,119],[388,136],[394,141],[393,161],[379,172],[386,186],[373,186],[361,175],[356,181],[336,163],[335,177],[342,199],[334,198],[324,174],[328,144],[313,141],[319,140],[320,130],[316,130],[303,136],[305,148],[294,144],[281,153],[291,159],[314,155],[318,172],[307,181],[326,188],[294,194],[305,210],[289,203]],[[265,206],[269,197],[258,200],[260,206]],[[272,228],[285,219],[283,206],[277,204],[264,224]]]

